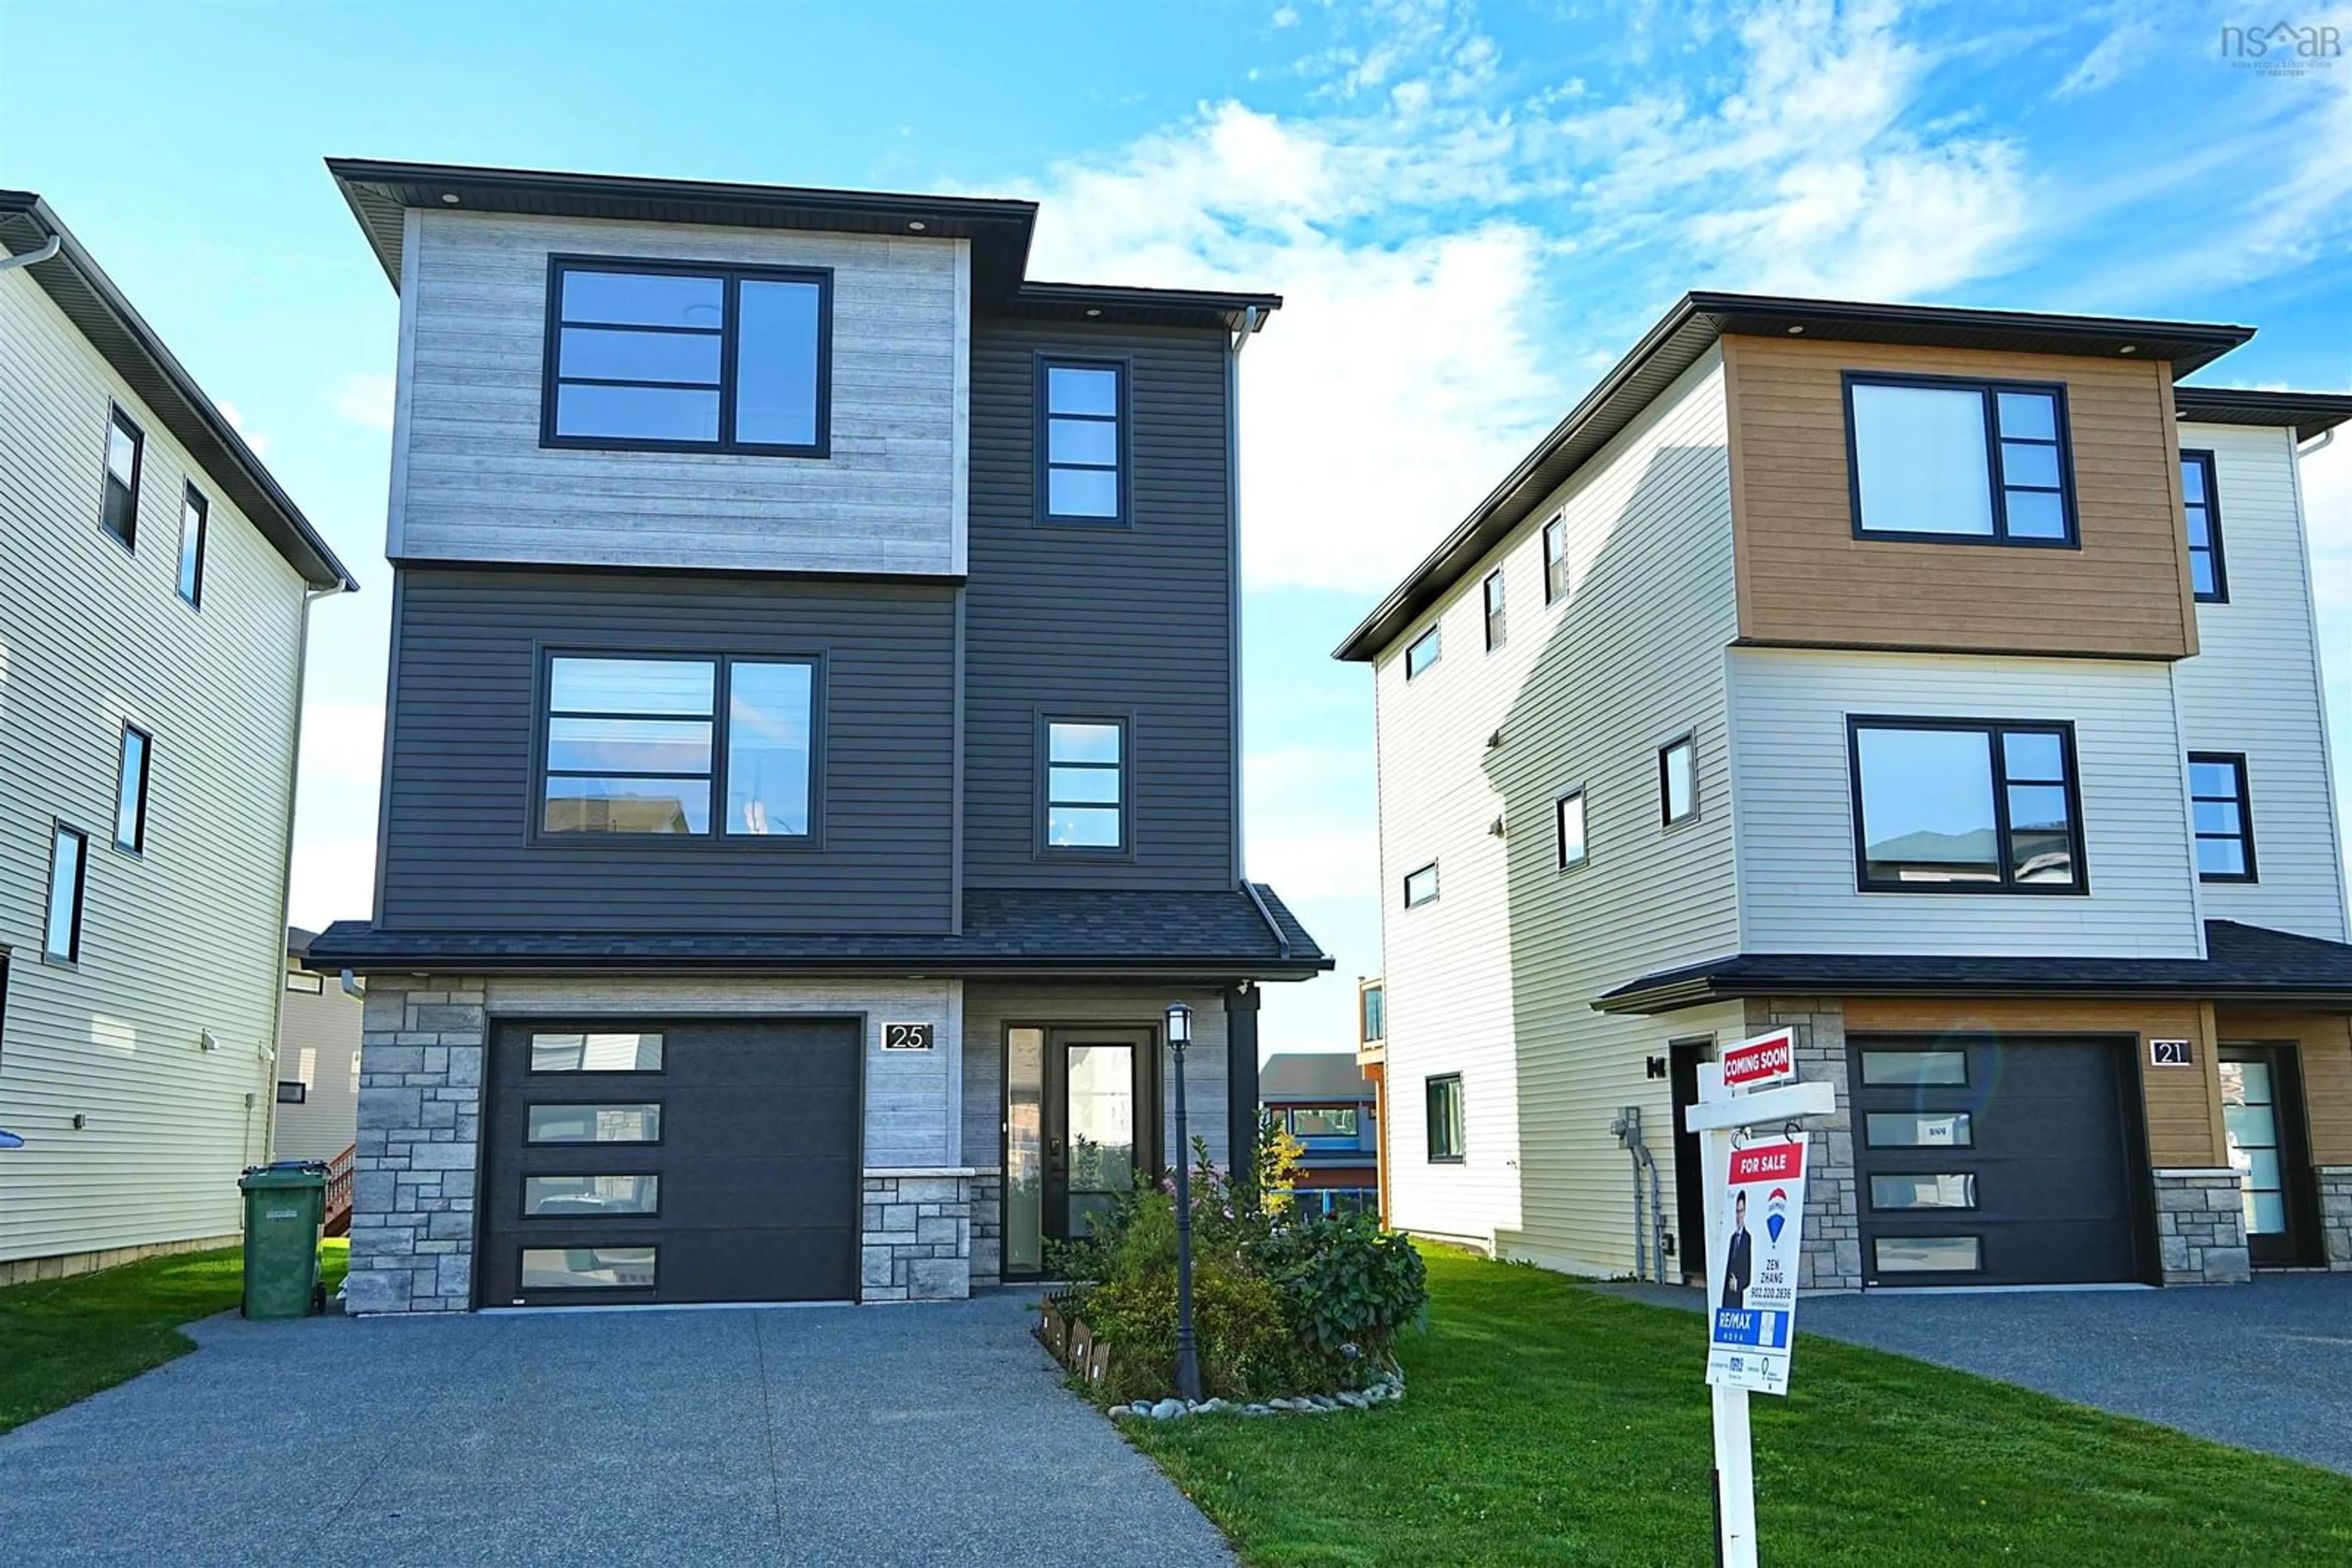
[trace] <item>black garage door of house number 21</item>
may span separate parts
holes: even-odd
[[[2131,1041],[1856,1039],[1872,1286],[2145,1281]]]

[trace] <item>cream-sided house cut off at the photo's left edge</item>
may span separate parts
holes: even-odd
[[[353,581],[40,197],[0,244],[5,1284],[238,1234],[303,630]]]

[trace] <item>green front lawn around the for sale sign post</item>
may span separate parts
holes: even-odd
[[[1698,1316],[1428,1258],[1404,1403],[1120,1429],[1249,1563],[1708,1563]],[[2347,1476],[1903,1356],[1802,1338],[1750,1408],[1766,1563],[2352,1561]]]

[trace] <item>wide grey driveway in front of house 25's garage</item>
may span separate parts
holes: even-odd
[[[1025,1302],[209,1319],[0,1436],[0,1556],[1230,1563]]]

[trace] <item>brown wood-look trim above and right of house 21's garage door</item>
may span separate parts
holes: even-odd
[[[2220,1072],[2209,1013],[2194,1001],[1907,1001],[1853,997],[1846,1034],[2129,1034],[2147,1105],[2147,1164],[2209,1171],[2220,1147]],[[2150,1067],[2150,1039],[2187,1039],[2192,1067]]]

